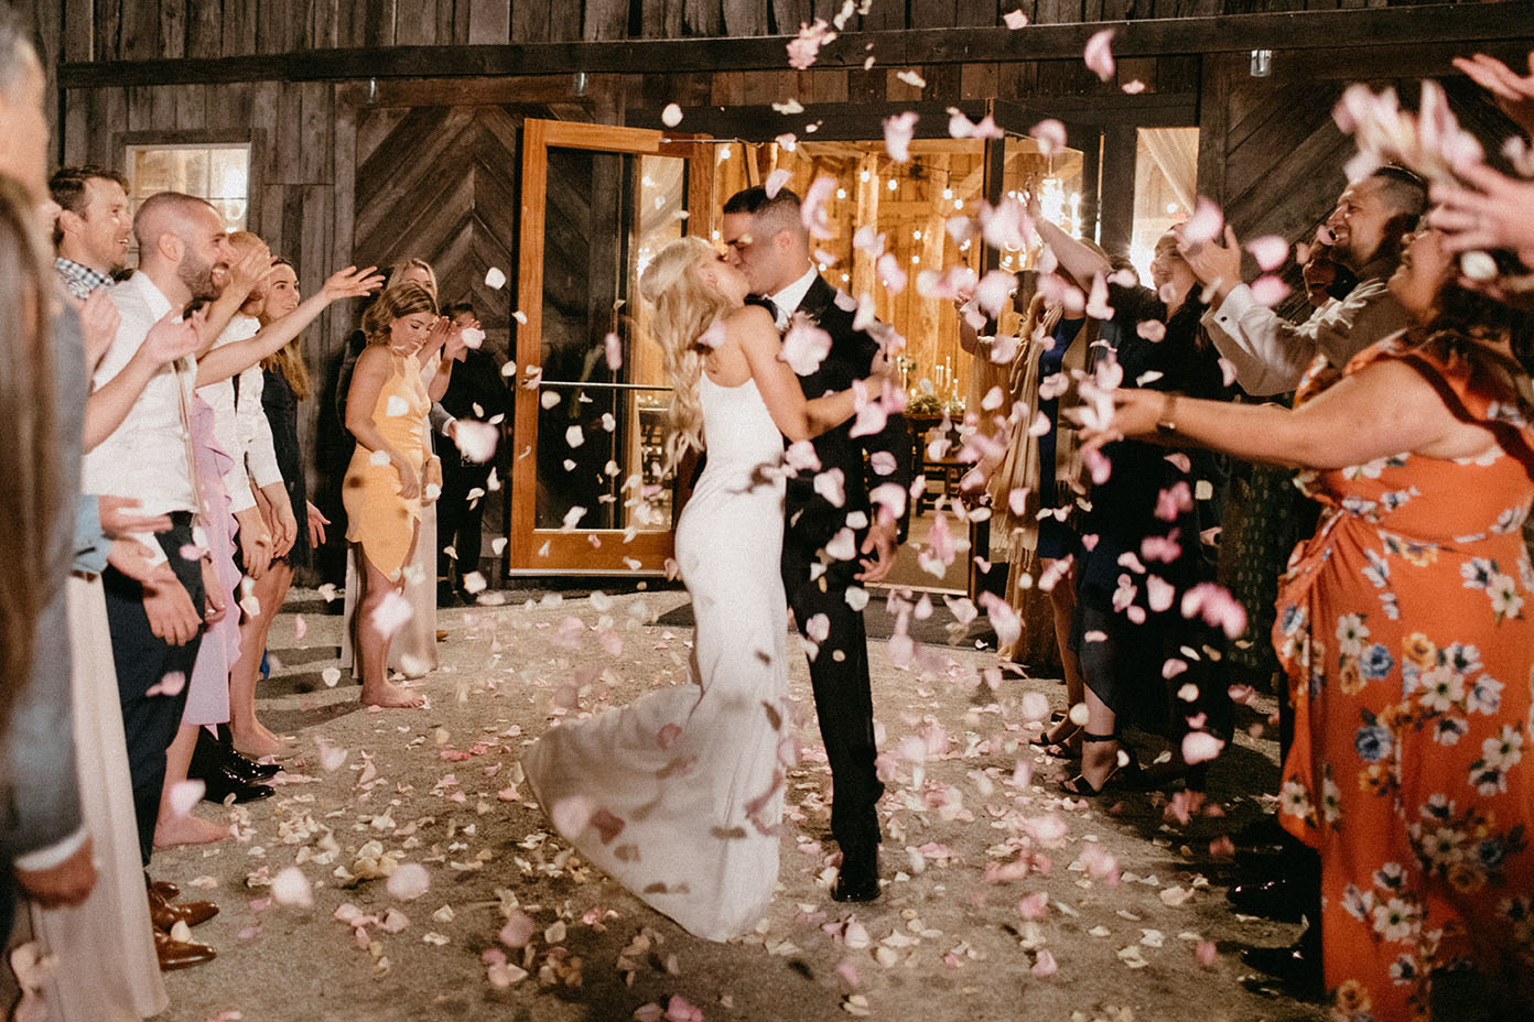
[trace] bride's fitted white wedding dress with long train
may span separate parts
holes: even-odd
[[[704,374],[707,463],[676,526],[696,633],[690,683],[563,723],[523,758],[555,829],[710,941],[749,932],[778,883],[788,746],[782,435],[756,383]]]

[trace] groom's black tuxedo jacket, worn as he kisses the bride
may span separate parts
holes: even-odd
[[[831,351],[810,375],[799,377],[799,386],[807,398],[822,397],[833,391],[845,391],[853,380],[862,380],[879,352],[879,342],[867,331],[853,329],[853,313],[836,305],[836,290],[822,277],[805,293],[796,310],[811,323],[831,336]],[[847,490],[847,503],[834,507],[815,492],[815,472],[801,472],[788,478],[785,510],[788,515],[787,542],[813,544],[819,547],[845,524],[850,512],[865,512],[873,518],[868,492],[884,483],[896,483],[902,489],[911,486],[911,435],[902,415],[890,415],[884,431],[868,437],[853,437],[848,420],[815,438],[815,452],[821,460],[821,472],[841,469]],[[894,470],[877,475],[865,455],[881,450],[894,458]],[[900,518],[904,538],[907,516]]]

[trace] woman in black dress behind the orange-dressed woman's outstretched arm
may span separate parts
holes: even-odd
[[[1103,319],[1104,340],[1124,380],[1226,395],[1218,357],[1198,325],[1204,313],[1198,282],[1178,254],[1174,231],[1157,241],[1152,290],[1106,283],[1111,262],[1039,216],[1037,207],[1032,218],[1071,279],[1094,280],[1091,290],[1106,296],[1106,308],[1094,310],[1086,300],[1086,313]],[[1120,749],[1120,728],[1126,723],[1170,739],[1174,758],[1190,720],[1203,717],[1206,729],[1226,735],[1230,726],[1226,686],[1216,683],[1210,657],[1201,653],[1213,637],[1175,605],[1212,575],[1201,553],[1197,507],[1200,480],[1207,480],[1207,472],[1192,458],[1178,463],[1143,444],[1114,444],[1101,455],[1111,470],[1094,475],[1091,510],[1080,526],[1095,541],[1083,542],[1075,561],[1071,647],[1081,663],[1088,719],[1080,732],[1080,772],[1063,785],[1072,795],[1098,795],[1117,783],[1131,763]],[[1144,572],[1129,567],[1131,559]],[[1178,660],[1181,673],[1166,674],[1170,659]],[[1174,696],[1184,685],[1195,686],[1195,699]],[[1172,768],[1167,778],[1184,769]]]

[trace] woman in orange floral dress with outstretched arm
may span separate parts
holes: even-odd
[[[1416,325],[1293,412],[1121,391],[1112,423],[1312,469],[1273,630],[1279,818],[1321,852],[1325,985],[1356,1022],[1428,1017],[1434,970],[1534,1004],[1534,337],[1456,273],[1417,234],[1390,280]]]

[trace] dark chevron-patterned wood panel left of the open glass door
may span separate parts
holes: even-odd
[[[357,118],[354,254],[385,267],[419,256],[437,271],[443,302],[469,300],[486,345],[508,349],[514,276],[517,133],[542,107],[422,106]]]

